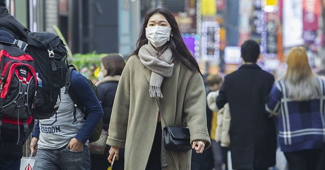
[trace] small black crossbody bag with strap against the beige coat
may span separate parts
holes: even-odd
[[[190,145],[190,135],[187,127],[176,127],[166,125],[163,113],[160,110],[158,99],[156,103],[160,112],[161,118],[164,121],[164,145],[168,151],[187,152],[192,149]]]

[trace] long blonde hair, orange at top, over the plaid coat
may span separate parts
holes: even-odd
[[[304,101],[320,96],[320,84],[309,66],[304,47],[291,48],[286,63],[287,70],[281,79],[289,98]]]

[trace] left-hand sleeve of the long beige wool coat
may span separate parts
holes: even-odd
[[[106,144],[118,148],[125,147],[130,99],[130,65],[127,62],[119,80],[114,99]]]

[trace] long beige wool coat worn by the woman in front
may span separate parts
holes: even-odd
[[[107,145],[124,148],[124,169],[145,169],[152,147],[158,120],[158,106],[149,96],[151,70],[139,57],[128,59],[122,72],[114,100]],[[202,76],[174,60],[171,77],[161,84],[164,98],[159,99],[166,124],[188,126],[190,142],[211,141],[207,129],[206,96]],[[162,121],[161,128],[164,123]],[[164,145],[164,144],[162,144]],[[190,169],[191,151],[171,152],[162,147],[162,169]],[[166,162],[166,161],[165,161]]]

